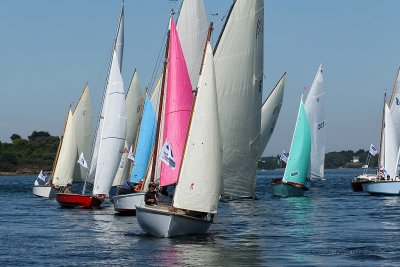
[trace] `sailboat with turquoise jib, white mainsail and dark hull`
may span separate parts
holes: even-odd
[[[322,65],[320,65],[306,102],[303,103],[303,96],[301,98],[289,159],[283,178],[272,181],[273,195],[303,196],[304,192],[308,190],[305,186],[307,178],[311,180],[324,179],[324,98]]]

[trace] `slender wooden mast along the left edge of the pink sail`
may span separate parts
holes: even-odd
[[[171,18],[170,18],[170,24],[171,24],[171,19],[172,19],[172,14],[171,14]],[[167,71],[167,64],[168,64],[169,35],[170,35],[170,29],[168,29],[167,45],[165,46],[163,78],[162,78],[161,92],[160,92],[160,105],[159,105],[159,108],[158,108],[158,116],[157,116],[156,141],[154,143],[153,165],[152,165],[152,168],[151,168],[151,175],[150,175],[150,181],[151,182],[154,182],[154,174],[156,172],[158,139],[160,137],[160,123],[161,123],[161,115],[162,115],[163,102],[164,102],[163,99],[164,99],[164,87],[165,87],[165,73]]]

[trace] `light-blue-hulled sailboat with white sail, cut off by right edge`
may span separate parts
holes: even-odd
[[[398,176],[400,149],[395,126],[398,121],[396,122],[393,117],[389,104],[384,101],[384,122],[382,123],[381,153],[377,178],[362,183],[363,191],[371,195],[400,195],[400,179]]]

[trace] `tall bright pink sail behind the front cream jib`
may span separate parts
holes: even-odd
[[[165,156],[161,164],[161,186],[174,184],[178,179],[193,104],[192,85],[172,18],[170,24],[163,133],[164,148],[169,147],[161,151]]]

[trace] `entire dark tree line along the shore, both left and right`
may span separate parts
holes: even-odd
[[[60,138],[51,136],[45,131],[33,131],[28,139],[18,134],[10,137],[11,143],[0,142],[0,172],[38,173],[40,170],[51,170],[60,143]],[[365,164],[368,151],[359,149],[329,152],[325,156],[325,168],[360,168]],[[353,162],[358,157],[359,162]],[[376,167],[378,156],[372,158],[369,167]],[[258,162],[260,169],[284,168],[285,163],[280,155],[262,157]]]

